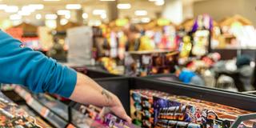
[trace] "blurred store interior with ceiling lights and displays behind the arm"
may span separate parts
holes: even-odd
[[[68,66],[254,90],[254,0],[1,0],[0,27]]]

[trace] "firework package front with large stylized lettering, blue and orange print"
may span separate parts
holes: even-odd
[[[209,126],[230,127],[234,122],[232,119],[219,118],[211,108],[203,105],[179,102],[175,97],[158,98],[154,97],[154,124],[158,126],[158,121],[162,119],[174,120],[178,122],[188,122],[198,124],[202,128]]]

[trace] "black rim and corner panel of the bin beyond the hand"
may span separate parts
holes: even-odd
[[[129,90],[131,89],[159,90],[169,94],[198,98],[208,102],[216,102],[222,105],[256,112],[256,108],[254,107],[256,104],[256,97],[250,94],[201,86],[190,86],[183,83],[156,81],[154,78],[105,78],[97,80],[97,82],[106,88],[106,90],[110,90],[121,99],[127,113],[130,112]]]

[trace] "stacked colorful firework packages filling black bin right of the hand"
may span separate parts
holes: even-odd
[[[130,91],[131,118],[134,124],[154,128],[228,128],[239,115],[250,111],[223,106],[186,96],[165,94],[154,90]],[[146,116],[142,102],[150,99],[150,120]],[[153,102],[152,102],[153,100]],[[153,112],[152,112],[153,110]],[[150,125],[146,125],[146,121]],[[254,122],[250,122],[254,124]]]

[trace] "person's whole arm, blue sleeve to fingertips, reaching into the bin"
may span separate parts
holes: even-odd
[[[0,30],[0,83],[26,86],[34,93],[49,92],[83,104],[109,106],[130,122],[121,102],[85,75],[62,66]]]

